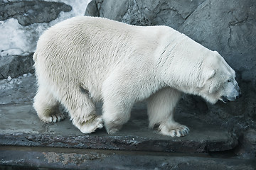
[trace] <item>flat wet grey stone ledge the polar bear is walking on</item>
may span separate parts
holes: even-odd
[[[0,145],[188,153],[225,151],[238,145],[230,132],[186,115],[177,120],[191,128],[188,136],[160,135],[148,129],[146,109],[142,106],[134,106],[132,118],[114,135],[107,135],[105,129],[84,135],[68,118],[44,124],[31,104],[0,106],[0,115]]]

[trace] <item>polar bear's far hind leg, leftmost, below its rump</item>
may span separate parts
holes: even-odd
[[[46,123],[58,122],[65,119],[65,115],[59,111],[59,102],[47,89],[39,86],[34,98],[33,108],[38,117]]]

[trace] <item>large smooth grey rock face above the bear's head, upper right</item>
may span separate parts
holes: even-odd
[[[242,80],[256,77],[256,2],[209,1],[196,8],[178,28],[211,50],[218,50]]]

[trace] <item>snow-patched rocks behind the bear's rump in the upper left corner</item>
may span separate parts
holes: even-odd
[[[0,0],[0,79],[33,72],[32,55],[48,27],[83,16],[89,0]]]

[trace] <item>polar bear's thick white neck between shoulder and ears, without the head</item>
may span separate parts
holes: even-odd
[[[157,64],[164,83],[187,94],[198,94],[202,63],[209,51],[186,35],[172,33]]]

